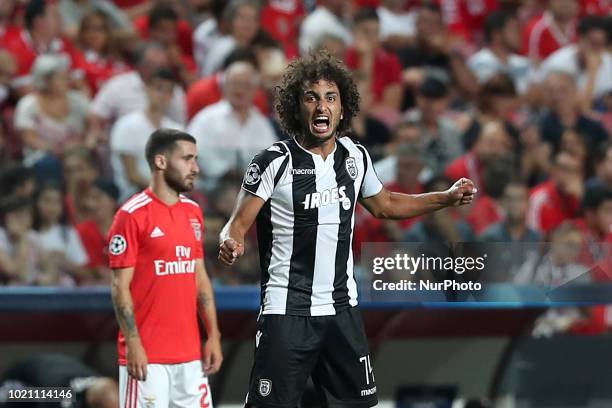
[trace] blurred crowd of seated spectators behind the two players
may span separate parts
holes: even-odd
[[[354,72],[364,144],[391,190],[460,177],[467,208],[357,212],[362,242],[551,242],[612,270],[612,4],[606,0],[2,0],[0,282],[106,285],[106,233],[149,183],[149,134],[198,140],[207,268],[257,283],[255,234],[216,262],[246,165],[283,135],[287,64],[326,49]],[[548,276],[563,282],[567,276]]]

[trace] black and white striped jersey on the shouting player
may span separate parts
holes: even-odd
[[[295,139],[277,142],[253,158],[242,188],[265,201],[257,216],[262,313],[324,316],[357,305],[355,205],[382,189],[366,149],[338,138],[323,160]]]

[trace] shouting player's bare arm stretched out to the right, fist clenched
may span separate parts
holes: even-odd
[[[476,194],[472,180],[461,178],[446,191],[424,194],[402,194],[383,188],[361,203],[376,218],[404,219],[427,214],[445,207],[470,204]]]

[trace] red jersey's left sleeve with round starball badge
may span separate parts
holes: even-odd
[[[108,259],[112,269],[131,268],[138,257],[138,224],[131,213],[119,210],[108,233]]]

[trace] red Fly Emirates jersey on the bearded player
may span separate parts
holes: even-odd
[[[204,256],[203,225],[195,201],[181,196],[167,205],[150,189],[115,215],[108,235],[110,267],[134,268],[130,292],[149,363],[200,359],[195,264]],[[125,365],[121,330],[117,344],[119,364]]]

